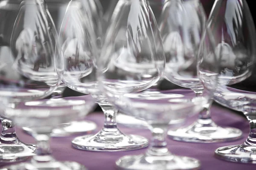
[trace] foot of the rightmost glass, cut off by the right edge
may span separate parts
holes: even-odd
[[[246,144],[219,147],[215,156],[226,161],[256,164],[256,146]]]

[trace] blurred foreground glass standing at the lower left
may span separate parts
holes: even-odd
[[[84,170],[85,167],[76,162],[56,161],[51,155],[49,139],[52,129],[58,124],[79,119],[90,112],[95,100],[87,95],[87,99],[76,101],[73,105],[58,106],[49,103],[45,106],[41,105],[44,101],[40,100],[28,102],[50,95],[61,84],[62,73],[56,73],[55,65],[62,63],[62,51],[58,46],[55,25],[44,1],[24,0],[18,11],[10,41],[14,61],[1,63],[6,63],[2,68],[7,72],[14,71],[20,78],[1,77],[0,99],[5,105],[1,116],[13,120],[17,125],[29,126],[38,148],[31,161],[4,169]],[[57,68],[59,71],[59,65]],[[28,152],[26,148],[16,145],[12,145],[11,150],[17,154]]]

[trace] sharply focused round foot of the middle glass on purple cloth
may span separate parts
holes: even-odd
[[[79,136],[73,139],[73,147],[93,151],[136,150],[148,146],[148,139],[138,135],[125,135],[117,128],[103,128],[95,135]]]

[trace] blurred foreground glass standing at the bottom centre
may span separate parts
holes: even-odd
[[[213,55],[211,63],[215,67],[209,70],[211,76],[203,82],[205,88],[201,96],[195,96],[190,89],[177,88],[159,91],[162,95],[157,96],[136,93],[136,89],[144,90],[154,85],[163,75],[164,47],[156,20],[146,0],[123,0],[118,5],[120,8],[114,13],[115,20],[112,20],[113,23],[108,29],[98,62],[101,70],[100,88],[122,113],[146,121],[153,137],[145,154],[123,156],[116,161],[116,165],[121,170],[198,169],[200,162],[197,159],[175,156],[169,152],[166,147],[166,133],[168,127],[180,126],[180,122],[186,119],[196,119],[195,113],[209,103],[218,77],[216,55]],[[134,11],[134,8],[141,10],[139,17],[134,12],[129,12],[128,16],[123,13],[126,10]],[[145,13],[150,21],[145,19]],[[136,23],[137,26],[126,26],[126,23],[130,24],[129,18],[133,19],[131,24]],[[134,22],[134,19],[138,22]],[[118,31],[121,28],[124,29],[122,34]],[[123,37],[122,42],[119,41],[120,35]],[[125,58],[126,62],[120,62],[121,58]],[[201,55],[198,59],[199,65],[204,60],[204,55]]]

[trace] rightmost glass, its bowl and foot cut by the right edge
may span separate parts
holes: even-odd
[[[215,150],[215,156],[255,164],[256,30],[246,1],[216,0],[208,27],[215,35],[216,54],[221,58],[221,74],[214,99],[243,112],[250,122],[250,134],[243,144],[220,147]]]

